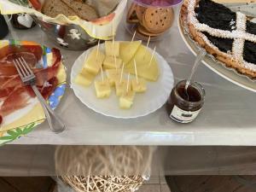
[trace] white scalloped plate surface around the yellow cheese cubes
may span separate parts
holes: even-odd
[[[90,52],[91,49],[86,50],[79,56],[74,62],[71,72],[71,87],[73,88],[74,94],[88,108],[109,117],[130,119],[153,113],[166,103],[168,96],[171,93],[174,79],[171,67],[158,53],[155,53],[155,58],[159,63],[160,77],[157,82],[148,82],[148,90],[145,93],[136,94],[133,106],[130,109],[119,108],[119,97],[115,96],[114,89],[112,89],[109,98],[97,99],[94,84],[90,84],[89,87],[74,84],[73,81],[75,77],[84,65],[85,55]],[[103,50],[103,45],[101,45],[100,49]],[[152,49],[150,49],[150,51],[152,51]],[[99,78],[101,78],[100,74],[98,74],[96,79]]]

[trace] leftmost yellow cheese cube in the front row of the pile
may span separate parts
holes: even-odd
[[[108,82],[108,79],[105,79],[104,81],[96,80],[94,82],[94,85],[95,85],[97,98],[107,98],[110,96],[111,87]]]

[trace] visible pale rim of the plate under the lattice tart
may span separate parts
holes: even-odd
[[[177,23],[178,23],[178,30],[183,38],[183,41],[191,50],[191,52],[194,55],[197,55],[198,46],[195,44],[195,42],[191,38],[189,38],[189,35],[184,33],[183,26],[181,25],[180,16]],[[256,92],[255,80],[249,79],[247,76],[237,73],[236,70],[233,68],[225,67],[224,64],[221,64],[218,61],[214,61],[214,59],[212,59],[212,56],[210,55],[205,56],[202,62],[207,67],[209,67],[213,72],[217,73],[224,79],[227,79],[230,82],[237,84],[247,90],[252,90],[253,92]]]

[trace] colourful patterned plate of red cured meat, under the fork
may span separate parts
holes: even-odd
[[[30,86],[20,80],[13,60],[23,56],[36,75],[38,90],[56,108],[66,88],[59,49],[34,42],[0,41],[0,145],[26,135],[44,122],[44,110]]]

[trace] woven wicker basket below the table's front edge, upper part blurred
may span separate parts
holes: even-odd
[[[154,148],[61,146],[55,169],[78,192],[133,192],[150,173]]]

